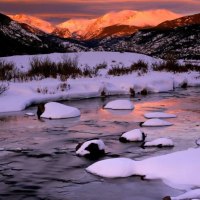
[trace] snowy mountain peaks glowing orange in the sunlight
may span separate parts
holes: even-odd
[[[10,15],[10,17],[19,23],[29,24],[46,33],[52,33],[60,37],[91,40],[109,35],[109,30],[106,28],[110,26],[112,30],[114,26],[117,27],[115,36],[129,35],[130,31],[126,33],[124,26],[121,25],[140,28],[156,26],[163,21],[176,19],[180,15],[168,10],[123,10],[120,12],[110,12],[96,19],[71,19],[57,25],[24,14]],[[131,33],[134,32],[131,31]]]

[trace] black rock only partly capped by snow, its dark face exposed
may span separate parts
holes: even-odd
[[[97,159],[105,154],[105,144],[100,139],[80,143],[76,147],[76,155]]]

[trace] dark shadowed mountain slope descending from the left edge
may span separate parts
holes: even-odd
[[[0,56],[80,51],[76,41],[64,40],[0,14]]]

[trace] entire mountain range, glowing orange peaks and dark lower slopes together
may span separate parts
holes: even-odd
[[[125,10],[58,25],[27,15],[0,14],[0,56],[95,50],[200,59],[199,39],[200,14]]]

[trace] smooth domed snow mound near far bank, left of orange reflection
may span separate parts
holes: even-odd
[[[134,105],[130,100],[114,100],[107,103],[104,108],[113,110],[133,110]]]

